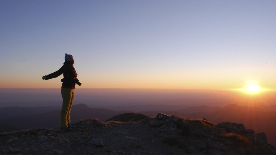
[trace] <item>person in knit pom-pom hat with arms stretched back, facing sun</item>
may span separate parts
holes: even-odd
[[[78,82],[77,73],[73,66],[74,59],[73,56],[70,54],[65,54],[65,62],[63,66],[51,73],[49,75],[42,76],[43,80],[49,80],[52,78],[56,78],[63,74],[63,79],[61,80],[61,95],[62,95],[62,109],[60,113],[60,120],[61,120],[61,129],[69,130],[73,126],[70,125],[70,111],[74,100],[74,90],[76,83],[81,86],[81,83]]]

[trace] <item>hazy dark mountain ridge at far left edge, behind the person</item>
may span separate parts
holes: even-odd
[[[9,106],[9,107],[0,108],[0,120],[16,117],[16,116],[21,117],[21,116],[46,113],[60,108],[61,106],[41,106],[41,107]]]

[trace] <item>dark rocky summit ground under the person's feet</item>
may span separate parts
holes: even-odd
[[[218,125],[176,115],[139,122],[98,122],[73,124],[69,131],[29,129],[0,133],[0,154],[108,154],[108,155],[275,155],[265,133],[255,133],[244,125]]]

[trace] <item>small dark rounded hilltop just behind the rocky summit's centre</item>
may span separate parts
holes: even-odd
[[[106,121],[138,122],[144,118],[148,118],[148,116],[143,115],[143,114],[124,113],[124,114],[119,114],[119,115],[113,116]]]

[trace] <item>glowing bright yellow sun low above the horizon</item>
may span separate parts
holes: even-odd
[[[244,88],[240,88],[237,90],[242,91],[246,94],[259,94],[260,92],[263,92],[267,89],[260,87],[257,81],[247,81]]]

